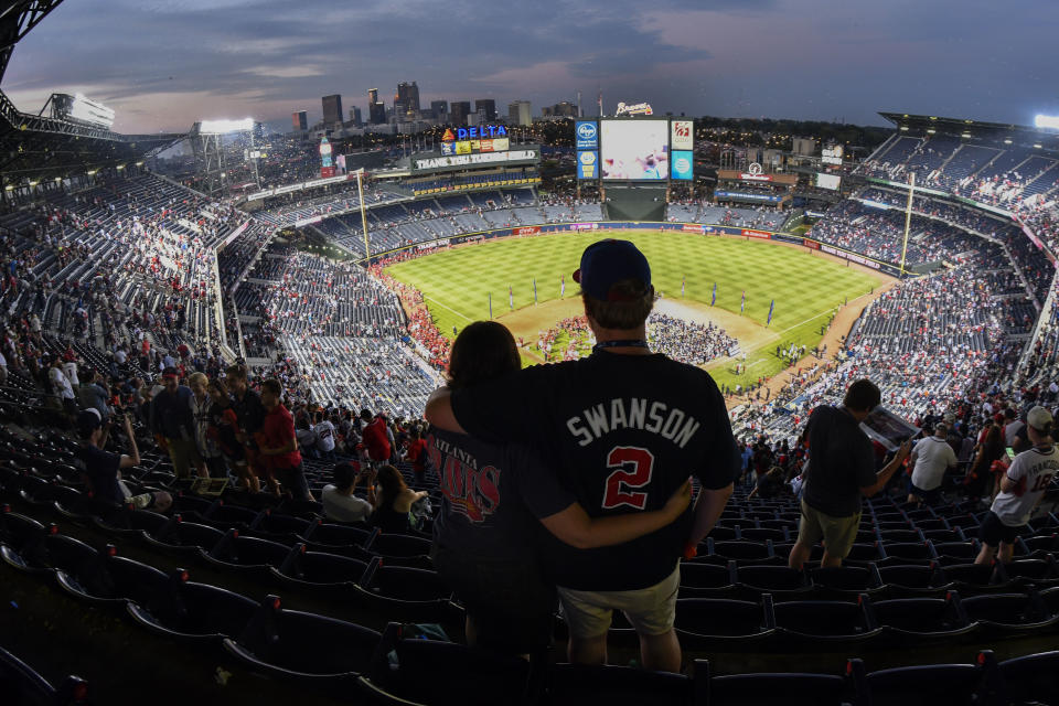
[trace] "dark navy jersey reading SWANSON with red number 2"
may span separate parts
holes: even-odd
[[[452,409],[472,436],[539,449],[592,517],[660,510],[688,475],[717,490],[739,473],[716,383],[661,354],[600,351],[528,367],[454,392]],[[575,549],[548,536],[543,560],[566,588],[646,588],[673,571],[691,526],[688,511],[657,532],[598,549]]]

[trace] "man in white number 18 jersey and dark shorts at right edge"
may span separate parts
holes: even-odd
[[[1051,440],[1051,413],[1034,407],[1026,415],[1026,429],[1033,448],[1015,457],[1001,481],[1001,492],[982,521],[978,538],[982,552],[975,564],[988,564],[999,547],[1001,561],[1012,560],[1015,537],[1029,522],[1051,479],[1059,473],[1059,449]]]

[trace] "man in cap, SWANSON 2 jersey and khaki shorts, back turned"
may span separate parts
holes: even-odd
[[[621,610],[640,638],[644,667],[678,672],[678,561],[720,516],[739,451],[709,374],[648,346],[654,288],[643,254],[628,240],[601,240],[580,264],[574,281],[598,341],[592,354],[488,385],[441,388],[426,418],[485,441],[533,445],[592,518],[660,510],[688,473],[698,478],[695,511],[675,523],[593,549],[545,537],[542,552],[563,601],[571,662],[606,663],[612,611]]]

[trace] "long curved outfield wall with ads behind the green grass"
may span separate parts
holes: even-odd
[[[505,237],[533,237],[548,233],[570,233],[580,231],[678,231],[681,233],[698,233],[700,235],[732,235],[744,237],[748,240],[775,240],[777,243],[789,243],[791,245],[801,245],[810,250],[820,250],[827,255],[834,255],[842,259],[863,265],[874,270],[878,270],[891,277],[902,277],[901,268],[891,264],[877,260],[859,253],[854,253],[836,245],[821,243],[813,238],[791,235],[789,233],[777,233],[774,231],[760,231],[758,228],[742,228],[728,225],[703,225],[702,223],[666,223],[666,222],[633,222],[633,221],[602,221],[590,223],[548,223],[544,225],[524,225],[515,228],[495,228],[492,231],[479,231],[478,233],[467,233],[450,238],[438,238],[417,243],[406,247],[394,248],[384,253],[376,253],[371,258],[361,260],[361,265],[373,264],[387,257],[406,253],[408,250],[425,252],[449,245],[464,245],[468,243],[481,243],[493,238]]]

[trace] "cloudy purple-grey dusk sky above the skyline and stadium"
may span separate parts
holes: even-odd
[[[882,124],[877,110],[1030,124],[1059,114],[1056,0],[66,0],[2,88],[36,113],[82,92],[119,132],[321,116],[320,97]]]

